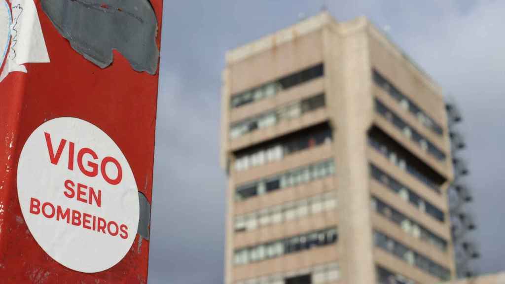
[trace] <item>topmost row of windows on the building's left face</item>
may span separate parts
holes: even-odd
[[[249,89],[239,94],[235,94],[231,98],[231,108],[238,108],[249,103],[273,97],[283,89],[288,89],[292,86],[322,77],[324,72],[323,69],[323,65],[319,64],[290,74],[274,82],[263,84],[259,87]]]

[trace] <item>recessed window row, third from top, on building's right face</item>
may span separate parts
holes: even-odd
[[[389,159],[389,161],[396,166],[398,166],[400,169],[407,171],[409,174],[413,175],[417,179],[419,179],[421,182],[426,184],[429,188],[431,188],[433,191],[435,191],[438,194],[441,194],[440,188],[436,185],[436,183],[429,178],[427,175],[422,173],[420,170],[418,170],[415,166],[412,164],[407,163],[407,155],[402,155],[399,153],[399,151],[396,151],[393,147],[389,147],[389,145],[386,145],[384,141],[380,141],[379,139],[376,139],[373,135],[368,136],[368,143],[370,146],[372,146],[374,149],[376,149],[379,153],[384,155],[386,158]]]

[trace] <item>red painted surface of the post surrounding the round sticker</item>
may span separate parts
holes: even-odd
[[[150,0],[150,5],[156,15],[156,18],[153,18],[157,24],[153,40],[156,42],[157,51],[160,50],[162,1]],[[128,8],[116,7],[124,3],[133,3],[131,1],[5,0],[5,2],[10,7],[10,13],[7,14],[10,15],[11,21],[14,20],[13,24],[15,24],[16,17],[23,15],[15,9],[23,7],[23,5],[31,5],[29,2],[34,3],[50,62],[40,62],[43,60],[31,58],[28,49],[27,60],[31,61],[20,64],[26,68],[26,73],[5,72],[7,75],[0,81],[0,282],[147,282],[148,233],[147,236],[141,236],[134,232],[133,245],[124,258],[111,268],[100,272],[78,272],[49,256],[33,238],[22,214],[18,200],[17,170],[23,146],[37,127],[57,118],[78,118],[95,125],[114,140],[131,167],[138,191],[145,196],[148,204],[151,203],[158,71],[155,71],[153,75],[150,74],[153,72],[149,72],[148,68],[143,68],[139,62],[141,63],[144,59],[135,58],[136,55],[132,52],[138,52],[138,49],[128,50],[126,45],[132,44],[128,41],[119,43],[124,46],[109,46],[114,48],[113,62],[108,66],[103,64],[99,66],[100,63],[104,63],[103,58],[93,58],[92,54],[83,56],[82,50],[79,50],[79,44],[81,44],[80,48],[84,44],[84,50],[86,50],[85,43],[89,38],[77,38],[77,41],[73,42],[72,40],[76,38],[77,33],[72,34],[72,30],[65,30],[68,27],[65,22],[59,22],[61,19],[50,16],[56,15],[55,11],[58,12],[58,9],[62,9],[62,13],[72,12],[64,3],[68,2],[80,3],[82,9],[88,9],[85,11],[86,13],[89,9],[94,9],[96,13],[101,13],[97,14],[99,17],[125,13],[127,17],[133,18],[131,22],[133,24],[103,26],[99,30],[89,30],[91,36],[93,36],[92,33],[96,33],[96,40],[102,41],[99,45],[106,48],[108,47],[106,43],[118,44],[117,40],[121,41],[128,37],[128,29],[136,29],[135,21],[138,22],[138,25],[142,25],[148,22],[148,19],[142,18],[143,16],[140,14],[140,16],[135,14],[136,4],[132,4],[135,7],[132,6],[133,10],[131,11],[133,12],[131,13]],[[56,5],[58,3],[61,3],[61,6]],[[52,4],[55,5],[51,6]],[[94,4],[98,6],[94,6]],[[43,8],[44,5],[46,7]],[[80,13],[79,9],[81,8],[75,8],[77,13]],[[26,11],[28,10],[25,8],[23,12]],[[72,23],[77,27],[92,28],[92,26],[83,23],[87,21],[96,22],[97,20],[84,17],[72,19]],[[107,24],[107,21],[104,23]],[[25,26],[29,24],[32,24],[29,20],[25,20],[23,23]],[[12,27],[11,25],[10,31],[15,32]],[[16,62],[12,54],[13,45],[36,44],[20,42],[16,36],[13,33],[9,37],[10,48],[7,49],[5,58],[0,59],[0,62],[3,62],[0,66],[2,70],[10,68],[8,65]],[[112,37],[116,38],[116,42],[113,42]],[[90,43],[90,46],[93,46],[92,44]],[[21,52],[19,50],[17,56],[21,56]],[[99,52],[99,50],[96,51],[96,53]],[[159,70],[158,55],[150,54],[150,60],[152,61],[153,58],[156,60],[156,69],[154,70]],[[9,56],[11,57],[10,63]],[[1,47],[0,57],[2,57]],[[53,141],[53,144],[57,146],[58,142]],[[41,184],[43,183],[41,182]],[[146,209],[145,206],[141,205],[140,207],[142,215]],[[145,217],[140,216],[139,224],[143,222],[144,226],[148,226],[148,222],[145,224]],[[55,238],[58,236],[55,235]],[[100,258],[100,255],[96,255],[96,257]]]

